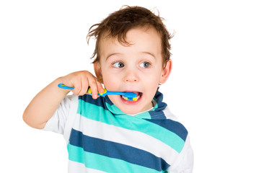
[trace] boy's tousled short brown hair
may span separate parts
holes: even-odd
[[[173,37],[173,35],[169,34],[162,20],[162,17],[159,17],[159,15],[156,16],[149,9],[141,6],[125,6],[117,12],[113,12],[106,19],[102,20],[102,22],[92,25],[92,27],[89,28],[87,43],[89,43],[89,39],[91,37],[96,38],[96,45],[94,53],[92,54],[94,61],[92,63],[100,61],[99,43],[103,34],[109,32],[109,35],[107,36],[117,37],[119,43],[130,45],[125,40],[125,35],[128,30],[136,27],[152,27],[159,33],[162,39],[162,58],[163,67],[165,67],[167,61],[169,61],[169,58],[172,55],[169,52],[171,49],[169,40]]]

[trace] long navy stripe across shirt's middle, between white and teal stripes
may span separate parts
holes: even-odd
[[[154,156],[154,154],[147,151],[121,143],[85,136],[80,131],[74,130],[73,128],[71,130],[69,143],[73,146],[84,148],[84,151],[87,152],[121,159],[131,164],[155,169],[156,171],[166,170],[169,167],[169,164],[167,164],[164,159]]]

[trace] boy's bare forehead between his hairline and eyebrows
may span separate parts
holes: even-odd
[[[105,32],[99,41],[100,57],[109,53],[138,53],[150,52],[161,56],[162,40],[158,32],[153,28],[134,28],[128,30],[125,40],[118,40],[118,36],[111,37]]]

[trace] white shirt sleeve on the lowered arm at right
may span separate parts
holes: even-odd
[[[178,156],[178,159],[172,164],[167,172],[169,173],[192,173],[194,164],[194,154],[190,145],[190,137],[187,136],[185,145]]]

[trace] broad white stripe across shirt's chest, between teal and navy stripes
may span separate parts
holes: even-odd
[[[167,164],[170,165],[178,156],[175,149],[145,133],[120,128],[115,125],[108,125],[96,120],[90,120],[83,116],[80,118],[81,120],[76,120],[73,128],[81,131],[86,136],[101,138],[115,143],[123,143],[127,146],[133,146],[148,151],[164,159],[164,161],[167,161]]]

